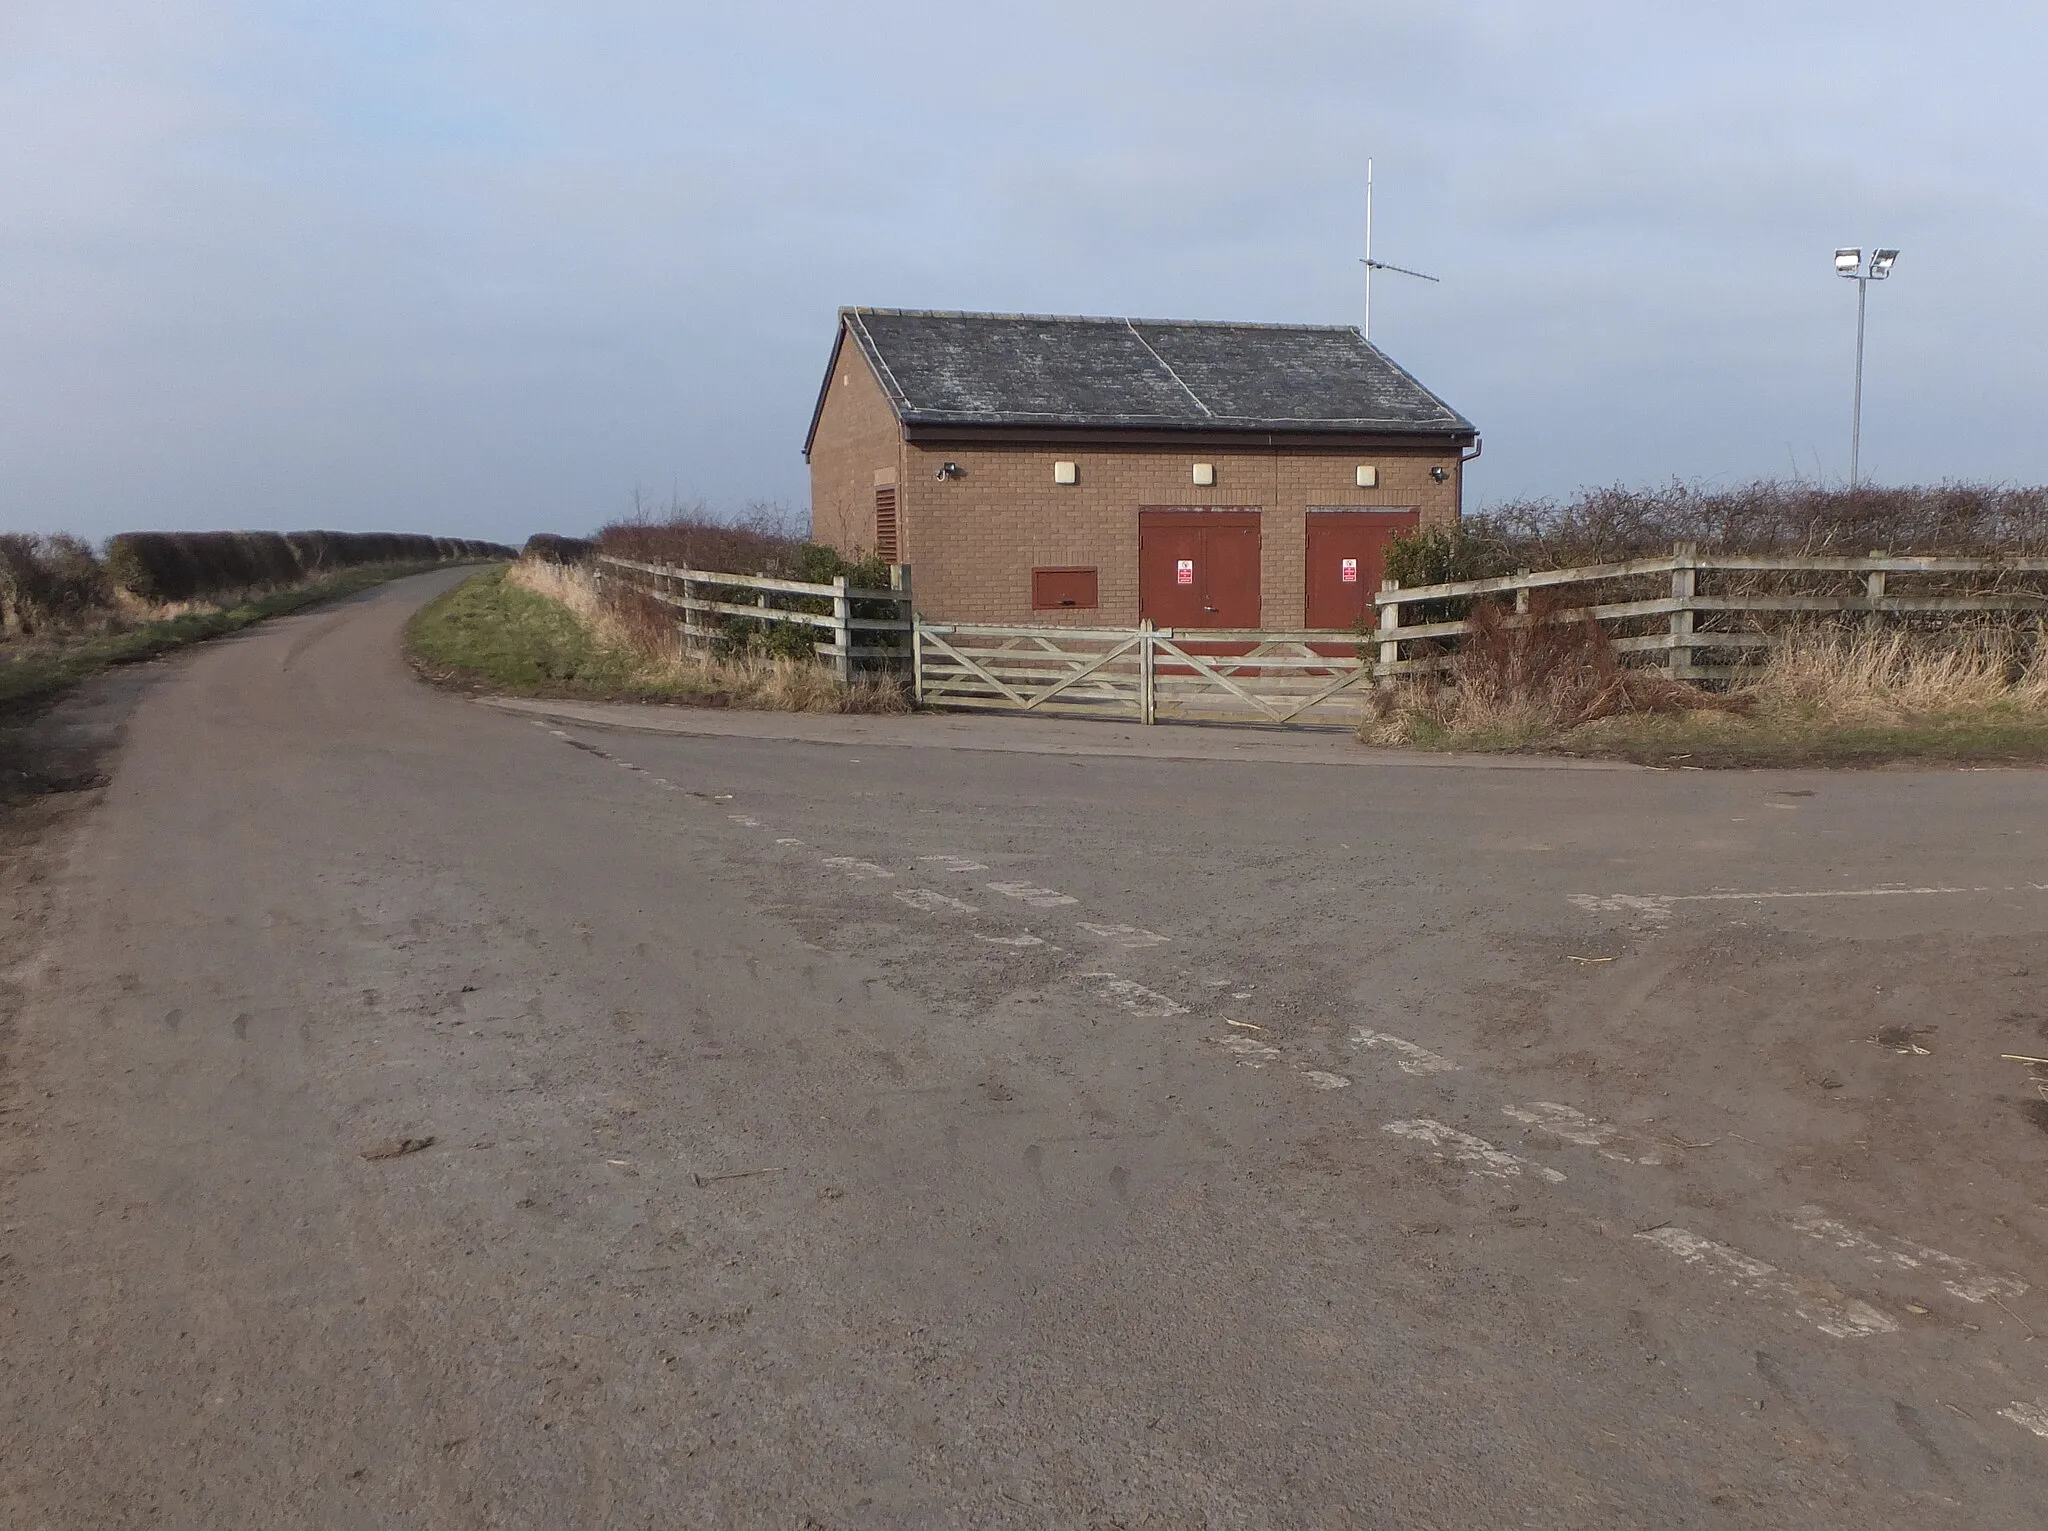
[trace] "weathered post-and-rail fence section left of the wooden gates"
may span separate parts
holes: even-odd
[[[682,612],[682,643],[686,649],[709,649],[719,637],[719,620],[739,616],[754,622],[791,622],[811,626],[825,637],[813,645],[840,675],[852,680],[856,661],[903,663],[909,657],[907,635],[913,626],[909,565],[889,567],[889,589],[862,589],[846,575],[829,583],[803,579],[770,579],[766,575],[735,575],[715,569],[684,569],[672,563],[639,563],[635,559],[598,557],[600,579],[610,573],[625,579],[649,600]],[[829,604],[829,612],[776,604],[797,598],[813,606]],[[897,616],[854,616],[856,602],[887,602]],[[881,632],[905,635],[903,645],[879,645]]]

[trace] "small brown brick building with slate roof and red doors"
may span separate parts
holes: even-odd
[[[1477,442],[1352,327],[842,309],[811,534],[938,620],[1350,628]]]

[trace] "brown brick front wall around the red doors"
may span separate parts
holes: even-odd
[[[1053,463],[1077,465],[1079,483],[1053,483]],[[956,479],[938,479],[956,463]],[[1194,487],[1194,465],[1212,463],[1217,483]],[[1356,469],[1380,471],[1360,489]],[[1450,479],[1434,483],[1432,467]],[[1303,622],[1303,542],[1309,506],[1421,510],[1423,526],[1458,518],[1458,450],[1309,452],[1300,448],[1118,448],[1090,452],[1040,446],[905,446],[903,557],[918,610],[954,622],[1063,622],[1130,626],[1139,620],[1139,508],[1231,506],[1260,510],[1262,624]],[[1094,567],[1102,606],[1094,612],[1032,612],[1034,567]]]

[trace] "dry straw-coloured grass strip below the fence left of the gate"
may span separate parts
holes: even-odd
[[[909,712],[895,675],[856,675],[850,684],[815,659],[737,653],[686,653],[676,612],[631,587],[600,585],[588,565],[520,559],[506,583],[559,604],[590,639],[631,671],[631,692],[713,706],[768,712]]]

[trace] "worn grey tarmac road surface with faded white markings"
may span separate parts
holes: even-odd
[[[2048,1523],[2048,778],[561,720],[446,579],[6,974],[0,1525]]]

